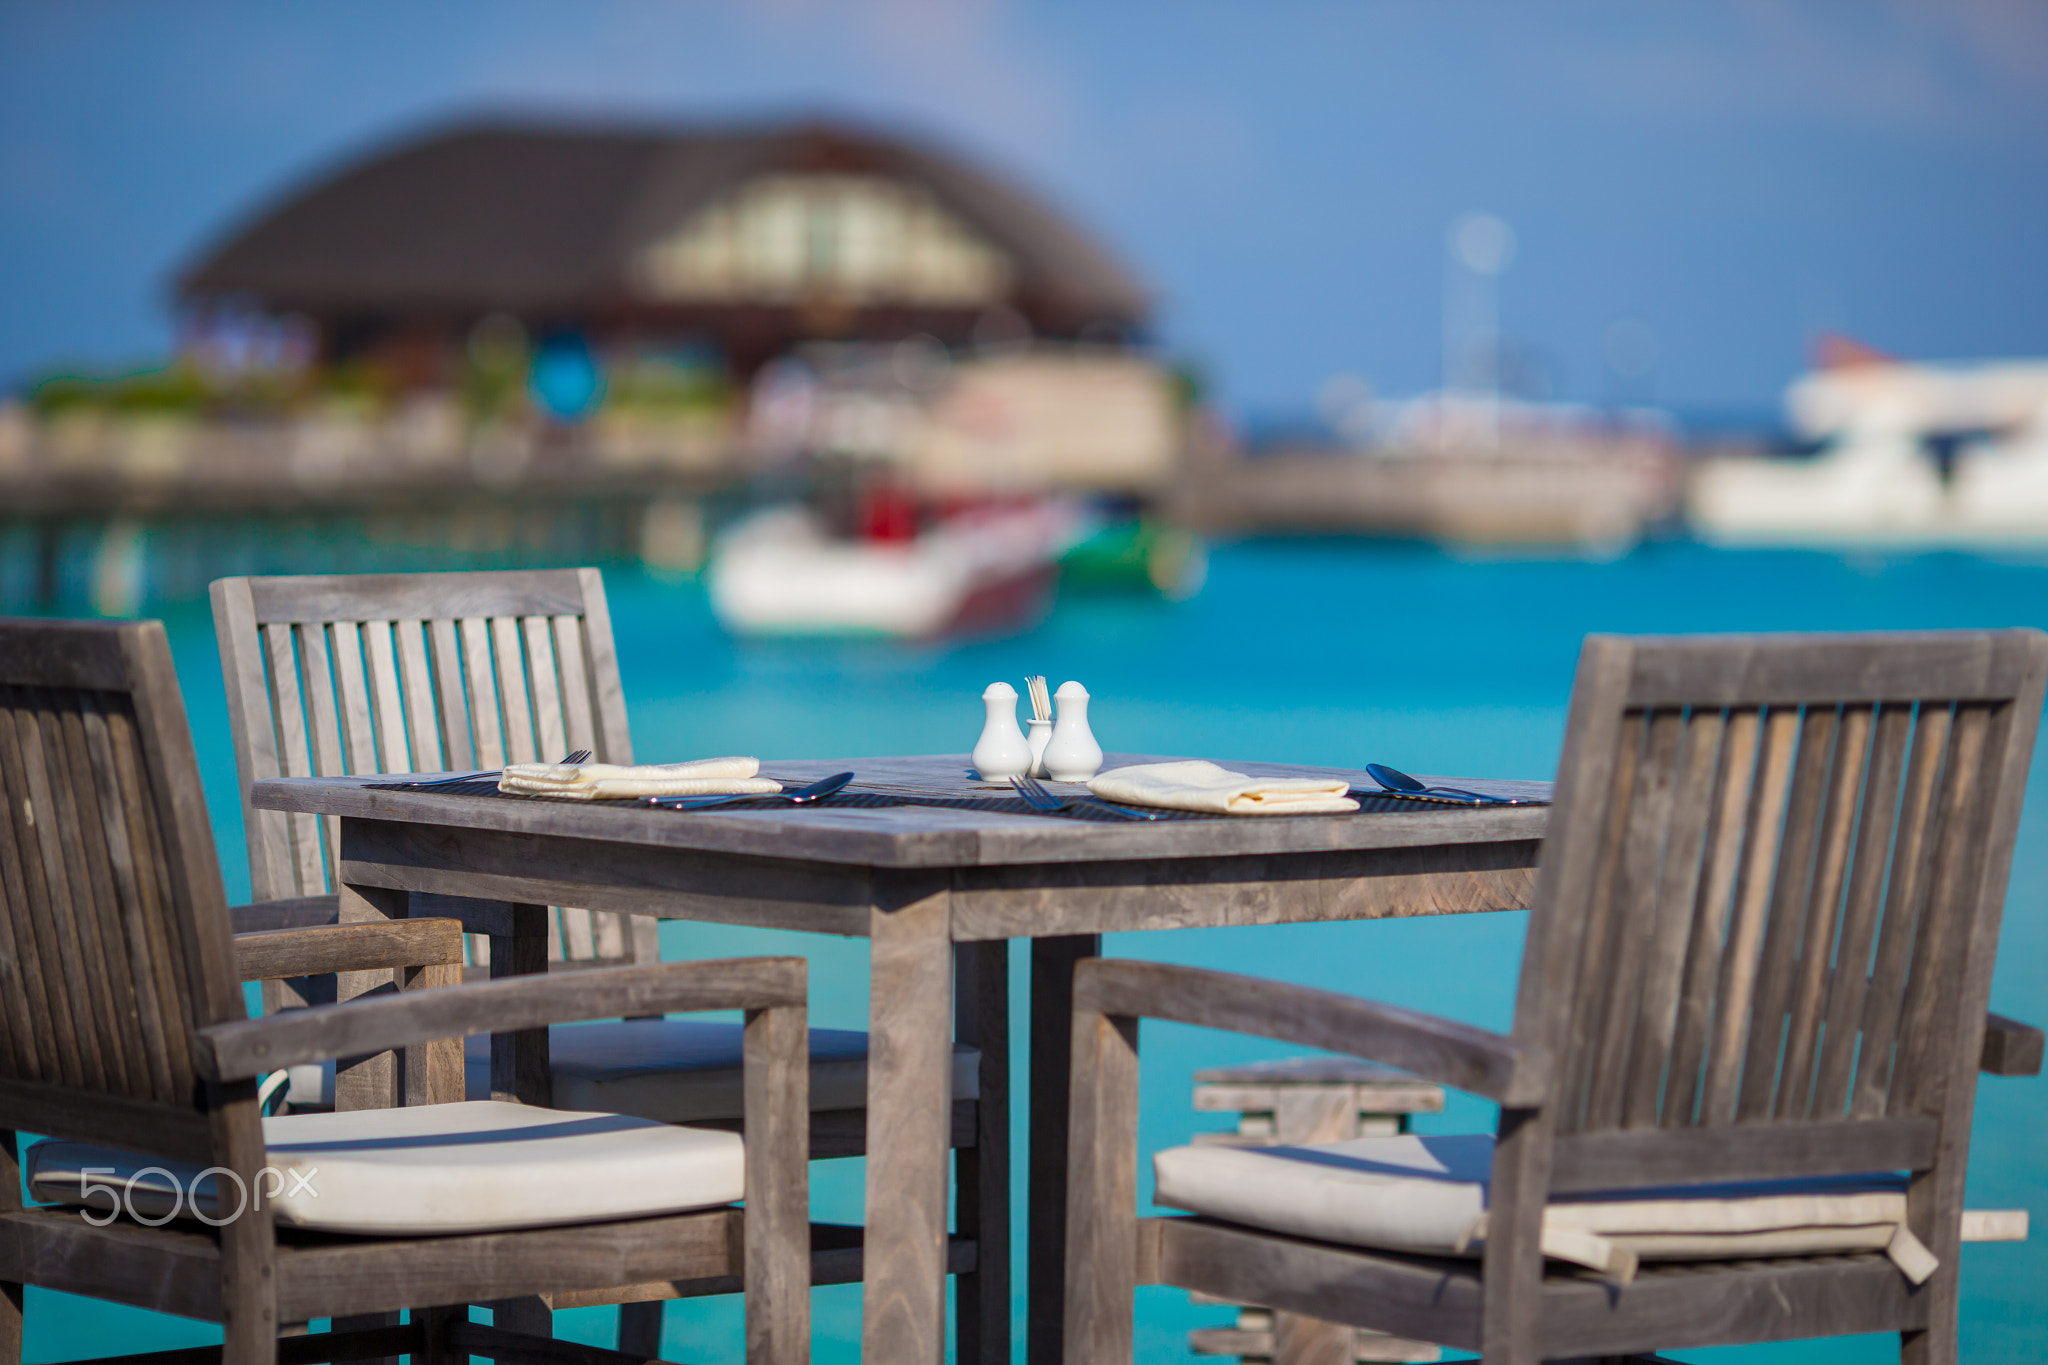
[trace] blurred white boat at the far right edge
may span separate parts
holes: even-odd
[[[1704,463],[1688,516],[1708,540],[2048,540],[2048,360],[1909,364],[1833,342],[1786,411],[1823,450]]]

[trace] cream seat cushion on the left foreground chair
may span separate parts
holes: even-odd
[[[545,1228],[680,1214],[745,1193],[745,1148],[737,1134],[616,1113],[494,1101],[287,1113],[264,1119],[264,1144],[276,1177],[262,1181],[262,1205],[281,1224],[324,1232]],[[205,1218],[236,1212],[233,1185],[223,1201],[221,1175],[203,1175],[197,1162],[84,1142],[29,1148],[29,1189],[53,1203],[106,1209],[109,1197],[90,1195],[88,1187],[115,1185],[129,1189],[133,1212],[154,1222],[178,1199],[172,1183],[197,1199]]]

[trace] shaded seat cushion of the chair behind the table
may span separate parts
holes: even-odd
[[[547,1031],[555,1103],[563,1109],[631,1113],[662,1124],[737,1119],[741,1025],[707,1019],[606,1019]],[[463,1040],[463,1095],[492,1097],[492,1040]],[[952,1050],[952,1097],[981,1095],[981,1054]],[[334,1107],[334,1062],[295,1066],[291,1103]],[[864,1109],[868,1036],[811,1029],[811,1107]]]

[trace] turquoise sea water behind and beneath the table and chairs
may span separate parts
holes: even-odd
[[[606,577],[643,761],[756,753],[827,757],[965,751],[981,688],[1044,673],[1094,694],[1104,747],[1214,759],[1274,759],[1409,772],[1548,778],[1563,739],[1579,641],[1591,630],[1866,630],[2048,626],[2048,555],[1720,553],[1653,544],[1616,563],[1460,559],[1415,544],[1272,540],[1214,551],[1192,602],[1067,598],[1036,630],[950,647],[735,643],[702,589],[631,571]],[[231,896],[248,892],[233,753],[213,628],[203,604],[162,610],[199,737],[207,798]],[[1106,952],[1257,972],[1509,1023],[1520,915],[1294,925],[1112,937]],[[813,1019],[862,1027],[860,943],[670,923],[668,958],[803,952]],[[1022,948],[1012,954],[1022,999]],[[1993,1007],[2048,1021],[2048,757],[2036,763],[2013,864]],[[1022,1013],[1014,1033],[1022,1038]],[[1282,1056],[1255,1040],[1147,1025],[1145,1150],[1221,1128],[1196,1115],[1196,1066]],[[1026,1058],[1016,1056],[1022,1072]],[[1477,1132],[1487,1105],[1454,1097],[1427,1132]],[[1022,1119],[1022,1105],[1018,1107]],[[1022,1124],[1018,1130],[1022,1142]],[[1022,1207],[1022,1148],[1018,1154]],[[821,1218],[856,1220],[860,1162],[821,1162]],[[1141,1191],[1143,1193],[1143,1191]],[[2048,1214],[2048,1083],[1985,1078],[1970,1156],[1972,1207]],[[1022,1246],[1020,1246],[1022,1252]],[[2025,1244],[1964,1248],[1964,1359],[2048,1359],[2048,1228]],[[1020,1257],[1022,1261],[1022,1257]],[[1022,1275],[1016,1285],[1022,1316]],[[817,1359],[858,1355],[858,1285],[817,1291]],[[1145,1289],[1139,1355],[1194,1359],[1188,1330],[1229,1310]],[[608,1342],[614,1314],[561,1314],[557,1330]],[[29,1300],[31,1365],[219,1340],[205,1324],[63,1295]],[[741,1359],[737,1300],[670,1306],[664,1353]],[[1847,1365],[1896,1359],[1890,1338],[1681,1351],[1686,1361]]]

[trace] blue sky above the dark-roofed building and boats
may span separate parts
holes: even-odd
[[[328,158],[477,108],[838,113],[981,156],[1161,299],[1237,411],[1438,379],[1444,229],[1518,235],[1567,397],[1767,411],[1819,329],[2048,354],[2038,0],[0,4],[0,383],[168,346],[180,260]]]

